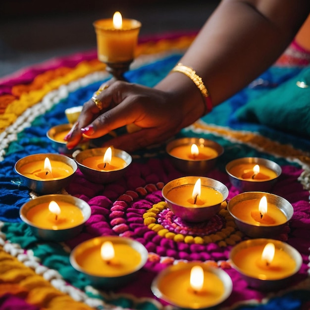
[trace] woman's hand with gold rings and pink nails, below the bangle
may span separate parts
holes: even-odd
[[[135,124],[141,130],[111,139],[108,144],[126,151],[165,141],[183,124],[183,113],[169,92],[122,81],[109,81],[97,99],[102,110],[89,100],[84,103],[77,123],[67,135],[67,148],[82,138],[102,137],[116,128]]]

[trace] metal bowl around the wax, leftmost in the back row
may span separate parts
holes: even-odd
[[[35,162],[35,161],[44,162],[46,157],[49,157],[50,160],[61,161],[65,163],[72,169],[72,173],[63,178],[56,178],[52,180],[51,179],[50,180],[44,180],[44,179],[37,180],[37,179],[31,178],[31,176],[26,176],[21,172],[21,168],[23,167],[23,165],[31,163],[31,162]],[[19,159],[15,163],[14,169],[19,174],[22,185],[40,194],[55,194],[59,192],[62,188],[68,185],[75,171],[77,170],[77,164],[72,158],[66,155],[54,154],[54,153],[48,153],[48,154],[41,153],[41,154],[28,155],[28,156],[25,156]]]

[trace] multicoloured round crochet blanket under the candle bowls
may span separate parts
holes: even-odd
[[[141,39],[126,78],[154,86],[194,37],[173,34]],[[90,51],[51,59],[0,81],[0,309],[170,309],[152,294],[151,283],[165,267],[194,260],[222,268],[232,279],[232,294],[218,309],[310,309],[310,142],[279,128],[240,120],[236,113],[270,88],[294,79],[301,71],[298,66],[274,65],[176,136],[203,137],[223,146],[224,154],[207,176],[228,187],[228,200],[239,194],[225,172],[230,160],[258,156],[281,166],[283,172],[272,193],[288,200],[294,215],[285,233],[270,237],[287,242],[302,255],[302,267],[290,287],[261,292],[250,288],[232,268],[229,252],[247,237],[225,207],[208,222],[195,225],[174,216],[161,189],[184,174],[171,164],[165,145],[131,154],[133,163],[126,174],[110,184],[94,184],[77,170],[62,193],[85,200],[92,214],[75,238],[61,243],[38,240],[20,220],[20,207],[37,193],[20,183],[15,162],[26,155],[56,153],[47,131],[66,123],[65,108],[83,104],[110,78],[104,68],[96,51]],[[75,246],[106,235],[134,238],[149,252],[134,281],[113,291],[94,288],[69,262]]]

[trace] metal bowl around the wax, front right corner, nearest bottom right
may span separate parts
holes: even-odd
[[[258,245],[266,245],[269,242],[272,242],[275,245],[276,249],[281,249],[282,251],[289,254],[295,260],[296,268],[292,271],[292,274],[290,276],[286,278],[281,278],[281,279],[263,280],[263,279],[259,279],[258,277],[256,278],[256,277],[247,275],[242,269],[240,269],[236,265],[235,255],[241,249],[246,249],[246,248],[258,246]],[[250,287],[253,287],[260,291],[266,291],[266,292],[283,289],[286,286],[288,286],[291,283],[293,276],[300,270],[302,263],[303,263],[303,258],[300,255],[300,253],[295,248],[290,246],[289,244],[285,242],[281,242],[279,240],[264,239],[264,238],[251,239],[251,240],[240,242],[238,245],[233,247],[232,250],[230,251],[229,259],[231,261],[233,268],[236,269],[241,274],[241,276],[247,281]]]

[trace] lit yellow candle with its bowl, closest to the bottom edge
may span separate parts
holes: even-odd
[[[151,288],[155,296],[179,308],[203,309],[223,302],[232,283],[219,268],[181,262],[162,270]]]

